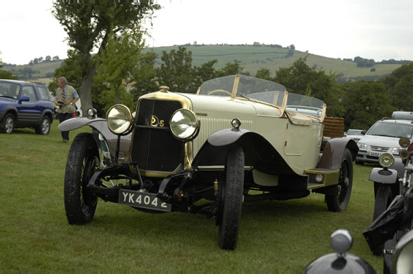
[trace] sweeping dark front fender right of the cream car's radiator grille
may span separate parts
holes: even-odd
[[[242,147],[246,166],[269,174],[280,170],[285,174],[295,174],[266,138],[246,129],[215,131],[195,156],[193,167],[225,165],[226,154],[231,147]]]

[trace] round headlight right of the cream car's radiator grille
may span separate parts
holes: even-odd
[[[178,109],[172,114],[169,127],[171,127],[173,136],[180,140],[189,141],[198,135],[200,123],[191,110]]]

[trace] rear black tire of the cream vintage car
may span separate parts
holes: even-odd
[[[339,191],[335,195],[326,194],[327,208],[329,211],[339,212],[344,211],[350,202],[352,189],[352,156],[350,150],[346,148],[341,158],[340,176],[339,176]]]

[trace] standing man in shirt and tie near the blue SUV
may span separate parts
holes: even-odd
[[[73,118],[73,112],[76,110],[74,103],[79,100],[79,96],[74,87],[67,85],[67,79],[65,77],[59,77],[57,79],[57,85],[59,85],[59,87],[56,89],[54,103],[59,106],[56,112],[59,123],[62,123],[64,120]],[[67,143],[69,140],[69,131],[62,131],[62,138],[63,143]]]

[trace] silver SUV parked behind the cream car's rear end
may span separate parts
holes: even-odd
[[[413,112],[393,112],[392,118],[377,121],[357,143],[356,164],[379,162],[379,156],[385,152],[399,157],[399,139],[412,138],[412,132]]]

